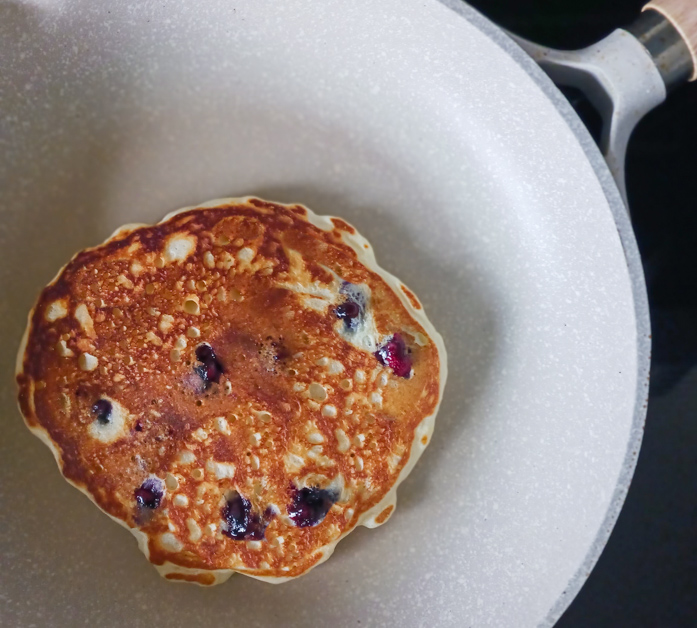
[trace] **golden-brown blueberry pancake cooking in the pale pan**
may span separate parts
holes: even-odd
[[[19,405],[171,580],[283,582],[394,512],[443,341],[339,218],[221,199],[126,225],[43,290]]]

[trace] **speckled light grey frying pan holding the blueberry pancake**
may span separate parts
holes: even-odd
[[[659,8],[690,32],[679,3]],[[607,105],[611,171],[533,59],[454,0],[3,0],[0,624],[553,624],[644,421],[646,296],[612,178],[631,115],[607,103],[632,111],[623,78],[665,97],[642,33],[643,57],[610,55],[623,71],[519,42]],[[246,194],[356,224],[425,303],[451,375],[387,525],[291,583],[204,590],[160,580],[62,481],[22,425],[13,360],[74,251]]]

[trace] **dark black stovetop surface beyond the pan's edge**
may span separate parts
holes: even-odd
[[[644,4],[468,1],[515,33],[567,49],[630,24]],[[629,205],[653,331],[648,418],[624,509],[559,628],[697,626],[696,156],[697,82],[648,114],[629,145]]]

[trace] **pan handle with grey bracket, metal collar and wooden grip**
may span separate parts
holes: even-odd
[[[652,0],[629,27],[581,50],[511,37],[555,83],[580,89],[598,111],[600,150],[626,205],[624,162],[634,127],[669,91],[697,78],[693,0]]]

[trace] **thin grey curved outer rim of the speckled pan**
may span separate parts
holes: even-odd
[[[437,0],[437,2],[445,5],[456,14],[466,19],[472,26],[508,54],[534,81],[540,91],[559,112],[559,115],[568,125],[588,159],[603,194],[607,199],[629,272],[637,330],[636,393],[629,440],[627,442],[627,448],[624,453],[624,460],[617,479],[617,484],[613,489],[612,497],[609,501],[600,529],[596,533],[585,558],[564,587],[561,596],[547,611],[544,619],[538,624],[539,628],[550,628],[559,620],[581,590],[586,580],[588,580],[591,571],[605,549],[624,505],[636,468],[644,433],[644,424],[646,422],[651,355],[651,324],[646,282],[629,211],[622,200],[617,184],[615,183],[605,159],[569,102],[551,79],[540,69],[537,63],[499,26],[494,24],[479,11],[466,4],[463,0]]]

